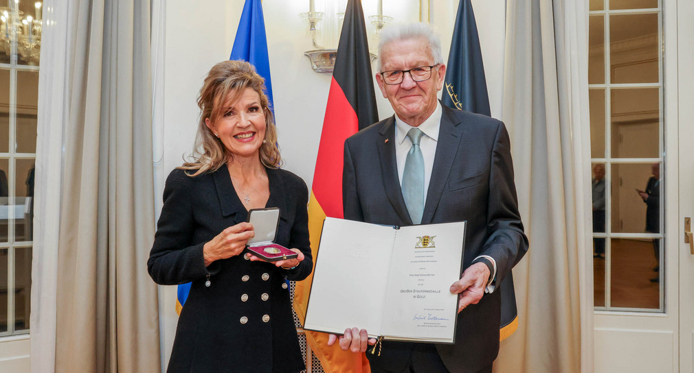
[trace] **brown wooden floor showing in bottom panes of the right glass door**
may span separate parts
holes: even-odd
[[[659,309],[660,286],[653,271],[656,260],[652,242],[636,239],[611,240],[611,307]],[[593,258],[595,307],[605,305],[605,263]]]

